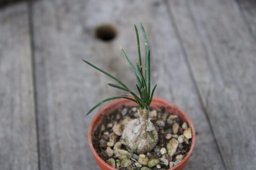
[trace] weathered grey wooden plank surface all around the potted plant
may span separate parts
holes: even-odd
[[[97,170],[88,129],[101,100],[136,91],[143,24],[155,96],[192,119],[186,169],[255,169],[256,1],[0,0],[0,169]],[[102,107],[102,106],[101,106]]]

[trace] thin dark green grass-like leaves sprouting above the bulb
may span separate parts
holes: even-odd
[[[144,39],[144,44],[145,44],[145,76],[143,76],[143,68],[142,68],[142,62],[141,62],[141,54],[140,54],[140,40],[139,40],[139,33],[138,33],[138,29],[136,27],[136,25],[134,25],[135,27],[135,31],[136,31],[136,36],[137,36],[137,44],[138,44],[138,52],[139,52],[139,62],[137,61],[137,70],[134,67],[134,65],[132,64],[131,60],[128,58],[128,56],[125,54],[123,48],[120,46],[121,51],[124,55],[124,57],[126,58],[126,60],[128,61],[128,63],[130,64],[135,77],[137,79],[138,84],[136,84],[136,87],[138,89],[138,92],[140,94],[140,97],[137,96],[134,92],[132,92],[127,86],[125,86],[119,79],[115,78],[114,76],[112,76],[111,74],[107,73],[104,70],[101,70],[100,68],[94,66],[93,64],[89,63],[88,61],[83,60],[85,63],[89,64],[90,66],[92,66],[93,68],[101,71],[102,73],[108,75],[109,77],[113,78],[114,80],[116,80],[120,85],[114,85],[114,84],[108,84],[111,87],[115,87],[121,90],[124,90],[126,92],[129,92],[132,96],[117,96],[117,97],[111,97],[105,100],[102,100],[100,103],[98,103],[97,105],[95,105],[94,107],[92,107],[92,109],[87,113],[87,115],[89,115],[96,107],[100,106],[102,103],[109,101],[109,100],[115,100],[115,99],[120,99],[120,98],[124,98],[124,99],[128,99],[128,100],[132,100],[136,103],[138,103],[138,105],[140,106],[140,108],[146,108],[148,109],[152,98],[153,98],[153,94],[155,92],[156,89],[156,85],[153,88],[151,94],[150,94],[150,49],[148,49],[148,41],[147,41],[147,37],[146,37],[146,33],[144,30],[144,27],[142,26],[142,24],[140,23],[141,26],[141,30],[143,33],[143,39]]]

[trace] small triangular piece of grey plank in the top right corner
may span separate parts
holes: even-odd
[[[237,0],[248,29],[256,38],[256,2],[253,0]]]

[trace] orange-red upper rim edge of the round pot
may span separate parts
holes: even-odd
[[[130,102],[130,100],[127,100],[127,99],[116,99],[116,100],[114,100],[114,101],[108,103],[108,104],[105,105],[104,107],[102,107],[102,108],[98,111],[98,113],[93,117],[93,119],[92,119],[92,121],[91,121],[91,123],[90,123],[89,131],[88,131],[89,145],[90,145],[90,148],[91,148],[91,150],[92,150],[92,152],[93,152],[93,155],[96,156],[96,157],[98,157],[99,160],[100,160],[100,162],[101,162],[102,164],[104,164],[106,167],[110,168],[110,169],[113,169],[113,167],[110,166],[110,165],[108,165],[104,160],[102,160],[102,159],[100,158],[100,156],[99,156],[98,153],[95,151],[95,149],[94,149],[94,147],[93,147],[93,145],[92,145],[92,137],[91,137],[91,136],[92,136],[92,125],[93,125],[93,123],[96,121],[96,119],[97,119],[99,116],[102,116],[101,113],[102,113],[104,110],[106,110],[106,109],[107,109],[108,107],[110,107],[111,105],[115,105],[115,104],[117,104],[117,103],[124,102],[124,101]],[[169,168],[169,169],[168,169],[168,170],[172,170],[172,169],[175,169],[175,168],[179,167],[183,162],[185,162],[185,161],[189,158],[190,154],[192,153],[192,151],[193,151],[193,149],[194,149],[194,147],[195,147],[195,143],[196,143],[196,131],[195,131],[195,127],[194,127],[194,124],[193,124],[193,122],[191,121],[190,117],[187,115],[187,113],[186,113],[184,110],[182,110],[180,107],[178,107],[177,105],[175,105],[174,103],[172,103],[172,102],[170,102],[170,101],[168,101],[168,100],[159,98],[159,97],[153,97],[152,102],[154,102],[154,101],[160,101],[160,102],[164,102],[164,103],[170,103],[170,105],[171,105],[172,107],[176,107],[176,108],[181,112],[181,114],[184,115],[184,117],[186,118],[186,121],[187,121],[189,127],[190,127],[191,130],[192,130],[192,140],[191,140],[191,147],[190,147],[190,149],[189,149],[189,152],[188,152],[188,154],[185,156],[185,158],[182,159],[182,161],[180,161],[180,163],[178,163],[177,165],[175,165],[175,166],[173,166],[172,168]],[[117,170],[116,168],[114,168],[114,169]]]

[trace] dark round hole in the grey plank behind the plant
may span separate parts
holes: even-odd
[[[109,24],[102,24],[95,28],[95,36],[102,41],[111,41],[116,34],[116,29]]]

